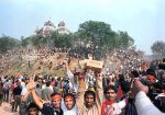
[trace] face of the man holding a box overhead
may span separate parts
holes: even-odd
[[[88,95],[85,97],[85,103],[86,103],[86,107],[87,107],[87,108],[92,107],[92,104],[95,103],[94,95],[88,94]]]

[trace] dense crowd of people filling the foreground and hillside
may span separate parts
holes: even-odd
[[[68,56],[80,58],[78,49]],[[32,50],[28,50],[32,53]],[[65,49],[43,49],[36,54],[54,55]],[[9,55],[10,54],[10,55]],[[1,56],[10,57],[9,53]],[[19,51],[24,54],[23,51]],[[69,69],[64,60],[64,77],[41,73],[0,74],[0,105],[11,104],[20,115],[164,115],[165,59],[147,62],[142,54],[116,50],[111,64],[102,69]],[[85,54],[82,58],[88,57]],[[63,57],[64,58],[64,57]],[[120,60],[120,61],[119,61]],[[116,71],[114,71],[116,70]]]

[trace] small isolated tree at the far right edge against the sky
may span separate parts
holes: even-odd
[[[165,42],[157,41],[155,42],[152,47],[152,53],[156,55],[165,55]]]

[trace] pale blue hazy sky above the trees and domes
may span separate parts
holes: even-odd
[[[106,22],[146,54],[165,42],[165,0],[0,0],[0,36],[30,36],[48,20],[56,26],[64,21],[72,32],[89,20]]]

